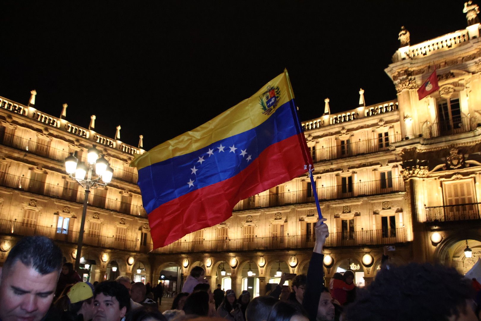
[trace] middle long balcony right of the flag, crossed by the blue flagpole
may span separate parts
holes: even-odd
[[[317,187],[319,200],[326,201],[398,192],[405,192],[405,185],[402,177],[393,177],[391,181],[369,180],[353,183],[351,185]],[[306,190],[274,193],[246,198],[234,206],[234,211],[313,202],[314,196]]]

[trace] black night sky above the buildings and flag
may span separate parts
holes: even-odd
[[[48,2],[48,4],[46,4]],[[300,118],[396,98],[402,25],[466,27],[464,1],[2,1],[0,96],[144,149],[248,98],[287,67]]]

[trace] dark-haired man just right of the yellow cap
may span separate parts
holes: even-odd
[[[130,295],[119,282],[99,283],[93,298],[93,321],[121,321],[130,310]]]

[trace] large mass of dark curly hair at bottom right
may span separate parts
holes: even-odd
[[[347,320],[448,320],[472,295],[471,281],[455,269],[417,263],[389,267],[358,292],[347,307]]]

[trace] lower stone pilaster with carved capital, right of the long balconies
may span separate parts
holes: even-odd
[[[426,231],[426,211],[424,209],[424,197],[422,191],[422,179],[428,176],[428,167],[415,165],[405,167],[401,174],[405,180],[406,193],[411,209],[413,224],[413,257],[416,262],[429,262],[428,236]]]

